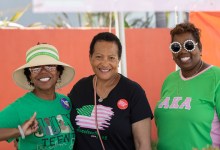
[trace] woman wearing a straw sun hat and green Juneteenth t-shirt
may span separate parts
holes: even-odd
[[[69,98],[55,89],[65,86],[73,77],[74,69],[59,61],[54,46],[38,44],[30,48],[26,64],[13,73],[15,83],[30,92],[0,112],[0,140],[19,138],[19,150],[72,149],[72,106]]]

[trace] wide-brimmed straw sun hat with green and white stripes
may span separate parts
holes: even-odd
[[[72,66],[59,61],[59,53],[54,46],[39,44],[31,47],[26,52],[26,64],[14,71],[13,80],[19,87],[26,90],[33,90],[33,86],[30,86],[24,74],[24,69],[41,65],[61,65],[64,67],[63,74],[61,75],[61,82],[56,88],[61,88],[70,83],[75,75]]]

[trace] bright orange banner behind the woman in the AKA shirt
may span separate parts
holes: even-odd
[[[220,12],[192,12],[190,22],[201,29],[202,59],[220,66]]]

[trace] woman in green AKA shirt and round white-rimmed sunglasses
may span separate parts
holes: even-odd
[[[164,81],[155,110],[158,150],[220,146],[220,68],[204,62],[200,30],[181,23],[170,31],[180,67]]]

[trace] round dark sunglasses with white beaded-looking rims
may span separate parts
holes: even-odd
[[[186,40],[183,43],[183,48],[188,52],[192,52],[195,50],[196,45],[198,45],[198,43],[195,43],[193,40]],[[170,44],[170,50],[173,53],[179,53],[181,49],[182,49],[182,45],[179,42],[172,42]]]

